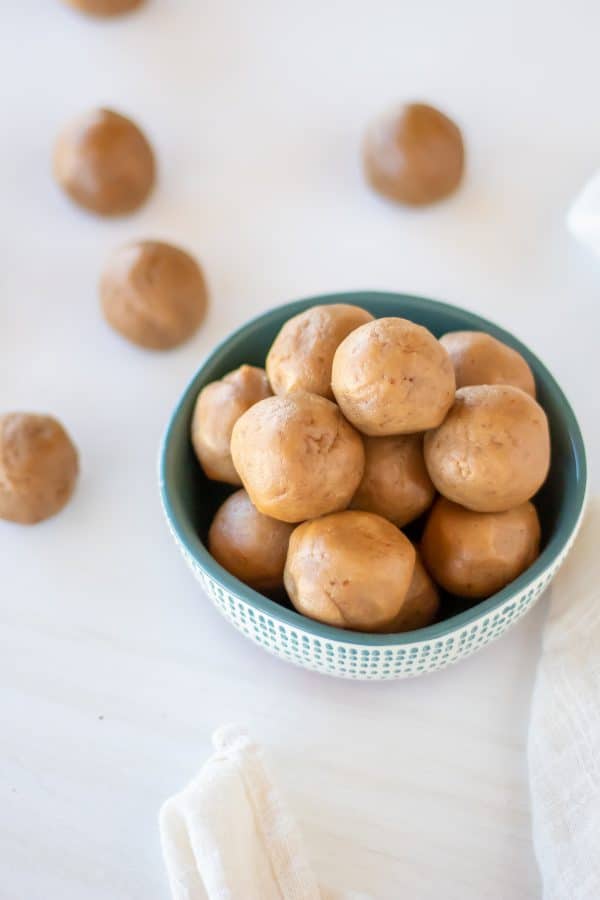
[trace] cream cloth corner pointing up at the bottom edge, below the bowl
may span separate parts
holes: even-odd
[[[319,886],[302,837],[237,726],[213,736],[215,753],[160,813],[173,900],[369,900]]]

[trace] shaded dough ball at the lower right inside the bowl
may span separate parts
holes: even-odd
[[[421,553],[441,587],[480,600],[514,581],[540,552],[535,506],[477,513],[440,497],[425,526]]]

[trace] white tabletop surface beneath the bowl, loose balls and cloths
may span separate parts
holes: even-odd
[[[161,519],[155,465],[217,339],[280,302],[358,288],[513,330],[597,456],[600,265],[564,212],[600,165],[600,6],[151,0],[100,24],[58,0],[0,5],[0,409],[57,415],[82,461],[63,514],[0,524],[0,897],[166,897],[159,805],[237,720],[331,884],[537,898],[525,748],[545,602],[415,681],[294,669],[209,606]],[[365,124],[405,99],[439,104],[468,147],[463,189],[427,211],[373,196],[358,164]],[[50,177],[57,130],[100,104],[139,121],[160,162],[151,202],[116,222]],[[189,248],[210,281],[205,327],[169,354],[99,314],[103,262],[137,237]]]

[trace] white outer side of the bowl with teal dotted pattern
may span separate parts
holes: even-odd
[[[445,637],[397,647],[389,644],[365,647],[316,637],[254,609],[215,581],[183,546],[170,523],[169,529],[196,579],[219,612],[238,631],[287,662],[325,675],[360,681],[386,681],[435,672],[499,638],[534,606],[548,587],[571,549],[578,530],[575,529],[560,556],[529,587],[475,622],[457,628]]]

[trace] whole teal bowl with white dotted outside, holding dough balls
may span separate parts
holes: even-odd
[[[519,578],[489,599],[467,606],[445,598],[443,618],[405,634],[371,635],[314,622],[242,584],[205,546],[212,516],[232,489],[209,482],[196,462],[190,422],[198,392],[242,363],[264,365],[275,335],[291,316],[318,303],[354,303],[374,316],[412,319],[440,336],[462,329],[487,331],[514,347],[535,374],[538,397],[550,420],[552,466],[536,498],[542,553]],[[183,392],[160,453],[160,493],[169,528],[206,594],[229,621],[266,650],[318,672],[363,680],[404,678],[441,669],[500,637],[536,602],[565,559],[579,528],[586,494],[581,432],[560,387],[546,367],[511,334],[455,306],[406,294],[358,292],[311,297],[264,313],[226,338]],[[202,596],[199,598],[203,599]]]

